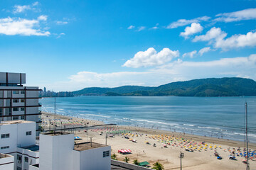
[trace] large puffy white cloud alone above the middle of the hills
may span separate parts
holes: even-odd
[[[178,57],[178,50],[172,51],[169,48],[164,48],[160,52],[156,52],[153,47],[146,51],[137,52],[134,57],[127,60],[122,67],[151,67],[156,65],[165,64],[171,61],[174,57]]]

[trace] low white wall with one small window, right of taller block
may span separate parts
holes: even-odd
[[[73,151],[74,170],[110,170],[111,157],[103,157],[104,151],[110,151],[111,147],[99,147],[84,151]],[[79,165],[79,166],[78,166]]]

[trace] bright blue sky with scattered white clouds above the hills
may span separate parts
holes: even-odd
[[[0,72],[50,91],[256,80],[256,1],[0,0]]]

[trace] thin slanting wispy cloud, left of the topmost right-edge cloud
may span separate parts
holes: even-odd
[[[176,22],[170,23],[169,26],[167,26],[166,28],[178,28],[180,26],[187,26],[191,23],[200,23],[201,21],[208,21],[209,19],[210,19],[210,17],[208,17],[208,16],[193,18],[191,20],[180,19]]]

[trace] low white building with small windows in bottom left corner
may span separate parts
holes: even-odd
[[[11,155],[4,157],[6,159],[4,162],[11,162],[12,160],[13,169],[28,170],[30,164],[38,164],[39,147],[36,145],[35,122],[25,120],[2,121],[0,123],[0,135],[0,152]],[[1,158],[0,162],[4,159]],[[0,169],[5,165],[0,164]]]

